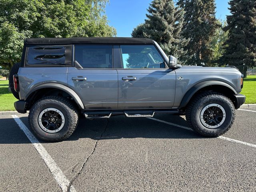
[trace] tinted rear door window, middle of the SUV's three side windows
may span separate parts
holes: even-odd
[[[112,68],[112,45],[76,45],[75,60],[83,68]]]

